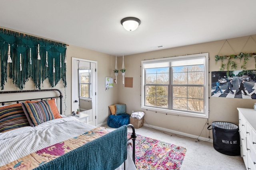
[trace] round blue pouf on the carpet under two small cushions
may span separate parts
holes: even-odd
[[[130,123],[130,115],[110,115],[108,116],[107,124],[109,127],[118,128],[123,125],[128,125]]]

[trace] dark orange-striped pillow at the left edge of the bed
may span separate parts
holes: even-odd
[[[0,107],[0,133],[30,126],[21,104]]]

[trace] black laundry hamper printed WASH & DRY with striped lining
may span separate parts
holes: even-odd
[[[240,136],[238,126],[234,123],[214,121],[208,126],[211,130],[213,147],[220,153],[236,156],[240,155]]]

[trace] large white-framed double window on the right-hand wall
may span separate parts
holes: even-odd
[[[142,61],[142,108],[208,118],[208,53]]]

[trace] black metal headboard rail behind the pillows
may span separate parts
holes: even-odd
[[[4,106],[5,102],[16,102],[16,103],[20,103],[21,101],[25,101],[25,100],[44,100],[47,98],[60,98],[60,114],[62,114],[62,92],[58,89],[43,89],[43,90],[19,90],[19,91],[0,91],[0,94],[10,94],[10,93],[26,93],[26,92],[48,92],[48,91],[58,91],[60,93],[60,96],[53,96],[53,95],[49,95],[47,97],[44,98],[29,98],[29,99],[22,99],[22,100],[13,100],[13,101],[2,101],[0,103],[2,103],[2,106]]]

